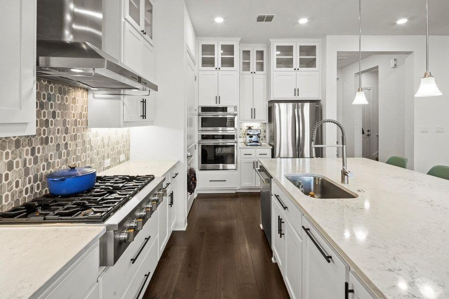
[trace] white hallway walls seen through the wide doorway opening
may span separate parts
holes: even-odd
[[[374,87],[374,97],[379,107],[379,161],[385,162],[392,155],[406,156],[406,73],[413,72],[413,65],[406,64],[407,54],[372,55],[362,60],[362,71],[378,67],[377,73],[362,73],[362,87]],[[397,68],[390,67],[390,60],[396,58]],[[348,156],[362,156],[362,106],[352,105],[358,88],[359,63],[353,63],[340,70],[344,92],[342,123],[347,129]],[[338,73],[338,72],[337,72]],[[413,82],[413,81],[412,81]],[[408,98],[407,100],[410,100]],[[408,117],[413,118],[413,111]],[[407,132],[412,134],[411,132]],[[376,139],[372,132],[372,140]],[[410,138],[410,136],[409,136]],[[413,155],[408,156],[413,165]]]

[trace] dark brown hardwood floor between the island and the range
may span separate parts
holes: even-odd
[[[260,229],[258,193],[201,195],[173,232],[145,299],[288,298]]]

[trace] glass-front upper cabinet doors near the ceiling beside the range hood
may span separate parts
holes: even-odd
[[[125,19],[153,43],[153,3],[151,0],[125,0]]]

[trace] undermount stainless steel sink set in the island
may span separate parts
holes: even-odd
[[[319,174],[288,174],[285,176],[298,189],[313,198],[356,198],[358,195],[340,187],[330,179]]]

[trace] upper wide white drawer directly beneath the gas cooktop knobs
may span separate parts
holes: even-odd
[[[102,299],[122,298],[126,289],[131,284],[131,278],[139,269],[140,265],[142,265],[144,257],[149,252],[155,240],[157,240],[158,212],[160,207],[161,205],[158,207],[158,210],[151,215],[150,220],[145,223],[143,229],[137,234],[134,241],[128,246],[117,263],[106,269],[99,277],[98,282],[100,283],[100,288],[102,290]],[[147,241],[146,238],[148,237],[150,237],[150,239]],[[141,249],[142,251],[139,254]],[[134,263],[132,263],[132,259],[134,259]]]

